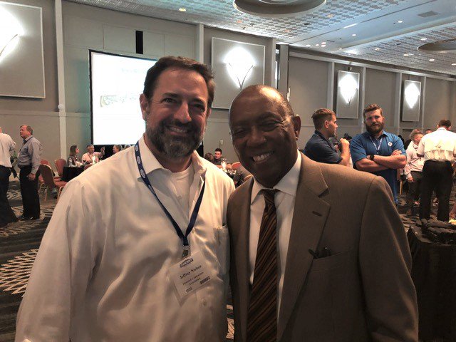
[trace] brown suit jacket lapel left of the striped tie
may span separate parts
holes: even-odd
[[[236,255],[236,276],[239,292],[239,322],[241,324],[242,336],[247,337],[247,313],[249,311],[250,300],[250,270],[249,270],[249,232],[250,232],[250,199],[252,196],[253,178],[250,183],[242,187],[242,193],[233,217],[233,228],[236,232],[236,241],[234,241],[234,253]],[[231,242],[233,243],[233,242]],[[239,340],[240,341],[240,340]]]

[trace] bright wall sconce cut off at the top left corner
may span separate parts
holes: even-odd
[[[0,61],[7,56],[19,43],[24,30],[19,22],[8,11],[0,6]]]

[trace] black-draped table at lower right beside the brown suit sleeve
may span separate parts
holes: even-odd
[[[420,340],[456,341],[456,245],[436,244],[410,227],[412,279],[418,297]]]

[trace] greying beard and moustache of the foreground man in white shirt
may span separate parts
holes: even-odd
[[[164,153],[168,157],[180,159],[188,157],[197,149],[202,142],[204,133],[199,134],[197,128],[193,127],[192,123],[188,124],[191,127],[192,134],[188,138],[172,137],[165,134],[165,123],[162,121],[157,128],[146,128],[145,133],[150,142],[157,148],[159,152]],[[188,125],[177,126],[186,127]]]

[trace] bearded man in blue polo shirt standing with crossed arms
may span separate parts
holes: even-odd
[[[368,105],[363,110],[366,132],[351,140],[350,152],[353,167],[385,178],[398,203],[397,169],[405,167],[404,144],[397,135],[383,130],[385,118],[379,105]]]

